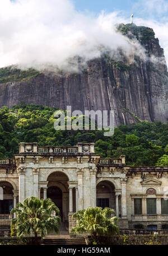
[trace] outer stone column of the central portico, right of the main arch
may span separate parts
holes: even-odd
[[[96,173],[97,168],[90,169],[90,201],[92,207],[96,207]]]

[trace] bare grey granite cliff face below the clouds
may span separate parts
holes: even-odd
[[[137,27],[137,26],[136,26]],[[155,35],[155,34],[154,34]],[[1,84],[0,106],[20,101],[66,110],[115,110],[115,125],[141,120],[166,122],[168,73],[164,50],[155,36],[140,40],[147,60],[134,56],[130,63],[106,55],[90,60],[80,73],[40,75],[31,80]],[[123,58],[124,59],[124,58]]]

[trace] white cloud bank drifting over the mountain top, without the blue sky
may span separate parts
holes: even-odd
[[[18,64],[44,69],[57,65],[60,69],[76,69],[69,59],[80,55],[86,62],[100,57],[103,50],[110,49],[113,55],[119,48],[127,55],[139,50],[144,57],[136,41],[116,33],[115,24],[120,22],[129,22],[122,12],[101,12],[99,16],[80,13],[70,0],[0,0],[0,67]],[[165,41],[162,34],[167,25],[142,19],[136,22],[153,26],[162,45],[168,48],[168,37]]]

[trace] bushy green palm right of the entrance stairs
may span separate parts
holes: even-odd
[[[72,228],[72,232],[90,234],[92,241],[99,242],[100,236],[110,236],[119,232],[116,221],[118,217],[111,217],[115,211],[105,207],[88,207],[72,216],[76,219],[76,227]]]

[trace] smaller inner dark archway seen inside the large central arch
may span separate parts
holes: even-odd
[[[49,187],[47,189],[47,198],[52,199],[55,205],[59,208],[60,217],[63,221],[63,201],[62,201],[62,190],[56,186]]]

